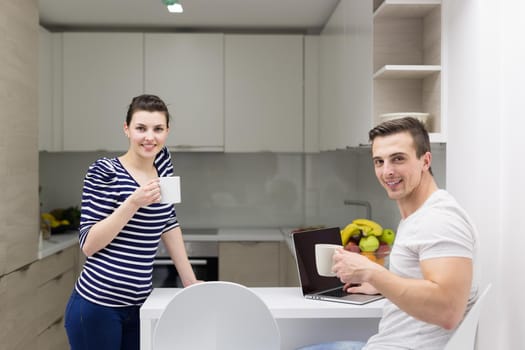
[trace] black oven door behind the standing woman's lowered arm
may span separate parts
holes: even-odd
[[[217,281],[219,266],[217,257],[189,258],[195,276],[201,281]],[[170,258],[155,258],[153,262],[153,288],[183,288],[177,269]]]

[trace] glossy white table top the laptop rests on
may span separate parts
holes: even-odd
[[[155,288],[140,309],[141,320],[160,317],[180,288]],[[284,318],[379,318],[384,299],[365,305],[305,299],[299,287],[250,288],[265,303],[276,319]]]

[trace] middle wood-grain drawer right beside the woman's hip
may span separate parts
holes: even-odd
[[[38,287],[38,333],[64,316],[67,301],[75,284],[74,270],[64,272]]]

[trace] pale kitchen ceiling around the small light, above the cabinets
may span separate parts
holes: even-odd
[[[318,33],[339,0],[39,0],[50,30],[273,31]],[[125,4],[125,6],[123,6]]]

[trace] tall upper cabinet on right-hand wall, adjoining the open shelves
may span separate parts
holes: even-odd
[[[372,126],[372,2],[342,0],[320,35],[320,149],[368,143]]]

